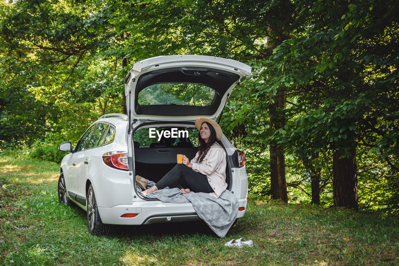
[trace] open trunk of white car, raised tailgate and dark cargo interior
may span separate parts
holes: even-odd
[[[216,120],[234,87],[250,74],[251,67],[246,64],[213,56],[157,56],[134,64],[125,77],[130,143],[127,154],[133,201],[141,200],[136,196],[135,175],[158,182],[176,165],[177,154],[191,160],[198,151],[198,131],[187,138],[165,136],[166,139],[158,141],[145,139],[148,131],[137,131],[172,124],[194,127],[198,117]],[[231,189],[232,167],[232,158],[227,158],[227,189]]]

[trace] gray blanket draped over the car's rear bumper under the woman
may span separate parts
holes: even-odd
[[[238,213],[238,200],[233,193],[225,190],[218,199],[210,196],[209,193],[182,194],[179,189],[160,189],[143,197],[158,199],[162,202],[188,203],[193,204],[198,216],[204,220],[209,227],[223,238],[233,225]]]

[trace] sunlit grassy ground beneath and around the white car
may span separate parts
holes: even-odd
[[[85,212],[61,206],[59,167],[0,155],[0,265],[398,265],[399,219],[249,199],[218,238],[203,222],[87,232]],[[231,248],[232,238],[254,240]]]

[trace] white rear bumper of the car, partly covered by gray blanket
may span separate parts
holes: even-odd
[[[239,199],[239,207],[246,208],[247,199]],[[185,222],[200,220],[191,203],[168,203],[158,200],[134,202],[131,205],[117,205],[111,208],[98,207],[101,220],[105,224],[140,225],[158,222]],[[137,214],[135,217],[121,217],[124,214]],[[243,217],[239,210],[237,218]]]

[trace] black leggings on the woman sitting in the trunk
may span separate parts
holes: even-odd
[[[158,189],[164,189],[165,187],[170,187],[172,189],[177,187],[178,189],[189,188],[193,192],[213,192],[206,175],[198,173],[182,163],[178,163],[173,167],[172,170],[162,177],[155,185]]]

